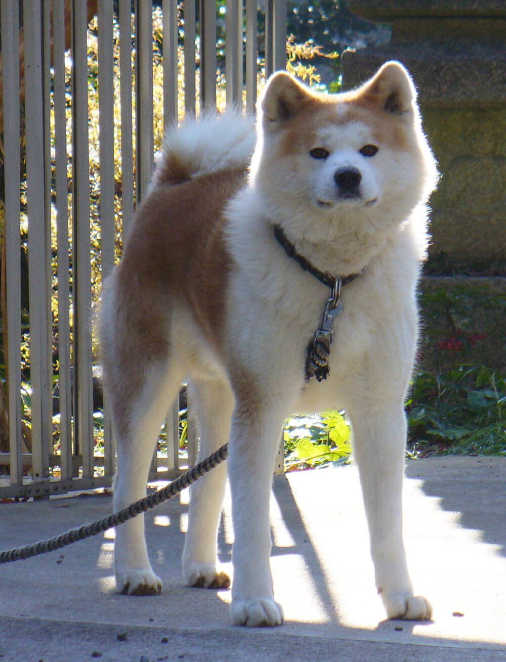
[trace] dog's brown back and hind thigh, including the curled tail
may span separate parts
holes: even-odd
[[[175,302],[182,299],[211,338],[220,327],[215,295],[230,263],[223,211],[244,183],[253,146],[252,119],[231,111],[168,132],[121,263],[103,289],[101,346],[113,402],[136,390],[149,361],[166,357]]]

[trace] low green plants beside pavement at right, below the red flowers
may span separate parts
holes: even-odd
[[[506,379],[481,365],[415,375],[406,403],[412,457],[506,455]]]

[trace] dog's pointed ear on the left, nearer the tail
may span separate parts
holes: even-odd
[[[310,99],[311,92],[297,83],[293,76],[286,71],[276,71],[267,81],[258,101],[264,125],[276,128],[295,117]]]

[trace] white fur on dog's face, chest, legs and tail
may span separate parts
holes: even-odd
[[[368,126],[354,122],[321,127],[318,140],[330,153],[324,162],[308,154],[278,157],[279,139],[274,129],[266,132],[260,113],[249,185],[228,206],[232,271],[225,296],[226,342],[233,348],[234,364],[250,379],[254,406],[247,391],[234,392],[229,367],[211,350],[191,311],[176,307],[170,365],[158,367],[156,375],[146,378],[146,401],[132,414],[131,439],[119,440],[131,449],[135,437],[146,438],[148,427],[153,428],[154,438],[161,415],[156,402],[168,402],[177,380],[190,373],[201,430],[199,459],[230,440],[235,624],[274,626],[283,620],[281,606],[274,600],[269,560],[269,494],[279,430],[297,410],[331,407],[346,408],[352,424],[376,584],[387,616],[430,618],[430,604],[413,594],[407,571],[401,488],[403,402],[417,345],[415,289],[427,242],[425,199],[436,170],[416,107],[410,105],[411,80],[399,65],[388,66],[393,78],[400,78],[397,84],[411,113],[415,147],[409,152],[380,146],[378,158],[364,158],[358,150],[373,138]],[[264,93],[260,106],[267,103],[268,94]],[[194,173],[215,171],[250,154],[248,121],[229,114],[218,121],[191,122],[170,134],[164,150],[177,152]],[[336,197],[333,173],[343,166],[362,172],[356,201]],[[322,207],[319,199],[329,204]],[[330,375],[322,383],[313,379],[305,384],[303,365],[307,338],[317,328],[329,292],[285,255],[274,239],[272,222],[281,224],[297,250],[320,269],[336,274],[364,270],[342,290],[344,312],[334,324]],[[112,296],[105,301],[108,326]],[[172,377],[164,379],[169,368]],[[154,385],[155,376],[161,389]],[[144,489],[142,475],[147,473],[151,447],[145,448],[140,479],[130,451],[123,453],[115,507],[138,498]],[[224,485],[221,467],[191,490],[183,554],[185,580],[191,585],[199,577],[210,585],[218,575],[216,535]],[[140,525],[131,524],[119,534],[116,555],[120,589],[126,583],[130,589],[136,583],[158,587]]]

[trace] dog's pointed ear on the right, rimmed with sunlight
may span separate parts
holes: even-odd
[[[408,113],[417,100],[417,91],[411,76],[402,64],[395,60],[383,64],[359,93],[374,100],[383,111],[392,115]]]

